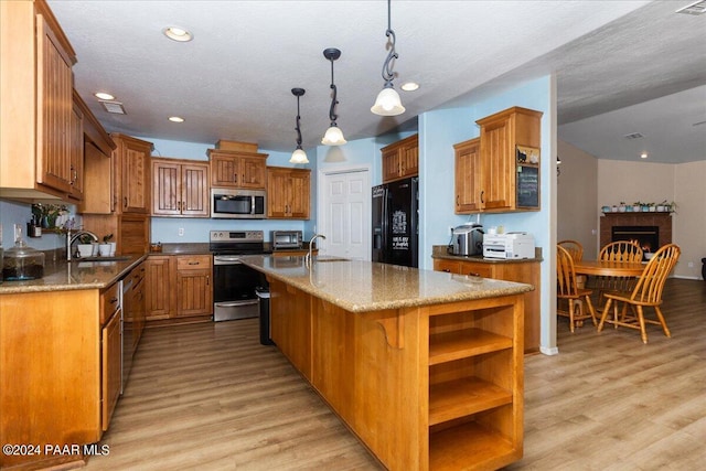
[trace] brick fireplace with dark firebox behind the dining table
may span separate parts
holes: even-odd
[[[600,246],[603,247],[613,240],[638,239],[640,242],[643,236],[646,237],[643,234],[637,234],[637,237],[629,235],[623,237],[623,234],[620,234],[619,237],[614,235],[614,228],[623,232],[625,227],[629,228],[628,232],[640,233],[654,229],[655,239],[645,240],[650,244],[650,251],[656,251],[661,246],[672,243],[671,213],[603,213],[600,217]],[[643,247],[644,244],[640,244],[640,246]]]

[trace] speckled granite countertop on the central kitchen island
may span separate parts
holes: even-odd
[[[242,261],[351,312],[377,311],[492,298],[532,291],[532,285],[394,265],[313,257],[250,255]]]

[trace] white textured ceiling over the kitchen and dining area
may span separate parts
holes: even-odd
[[[609,159],[706,158],[706,14],[675,14],[693,0],[392,2],[399,58],[395,86],[407,111],[371,114],[381,76],[387,3],[370,1],[49,0],[76,50],[75,84],[108,131],[293,150],[301,97],[304,147],[329,126],[334,64],[338,125],[347,139],[416,126],[416,116],[538,75],[556,73],[559,138]],[[194,40],[161,30],[178,25]],[[127,115],[93,97],[109,92]],[[686,90],[686,92],[685,92]],[[181,125],[169,116],[185,118]],[[622,138],[641,132],[642,142]],[[659,146],[659,147],[654,147]],[[173,156],[178,157],[178,156]]]

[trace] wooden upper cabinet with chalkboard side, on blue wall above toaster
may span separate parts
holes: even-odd
[[[541,111],[513,107],[475,121],[481,127],[480,159],[472,140],[454,146],[457,164],[461,162],[461,168],[456,169],[457,214],[539,210],[538,203],[533,207],[518,203],[520,182],[534,184],[537,195],[538,161],[534,181],[530,181],[528,173],[521,175],[517,147],[538,152],[541,118]],[[471,191],[475,194],[469,194]]]

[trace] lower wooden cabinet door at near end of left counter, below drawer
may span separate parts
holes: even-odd
[[[118,309],[110,321],[103,328],[101,342],[101,428],[107,430],[110,425],[110,417],[118,404],[120,396],[120,382],[122,379],[121,362],[122,362],[122,335],[120,332],[120,322],[122,311]]]

